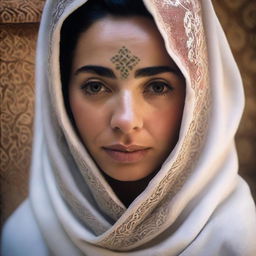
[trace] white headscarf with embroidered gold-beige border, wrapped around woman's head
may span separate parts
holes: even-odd
[[[91,1],[91,0],[90,0]],[[256,255],[256,214],[238,176],[243,86],[209,0],[144,0],[186,78],[180,137],[127,209],[77,137],[62,96],[59,40],[86,0],[49,0],[40,26],[29,200],[54,255]]]

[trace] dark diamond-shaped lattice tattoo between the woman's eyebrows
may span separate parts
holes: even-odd
[[[118,53],[111,58],[111,61],[116,65],[116,70],[120,71],[121,78],[126,79],[130,71],[140,62],[140,59],[123,46]]]

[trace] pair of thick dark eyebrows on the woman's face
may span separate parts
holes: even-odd
[[[147,76],[154,76],[161,73],[175,73],[177,75],[181,74],[179,69],[170,66],[155,66],[155,67],[146,67],[136,70],[135,78],[139,77],[147,77]],[[116,78],[116,75],[110,68],[106,68],[103,66],[96,66],[96,65],[86,65],[78,68],[75,72],[75,75],[80,73],[93,73],[99,76],[105,76],[108,78]]]

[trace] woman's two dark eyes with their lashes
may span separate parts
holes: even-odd
[[[96,91],[92,91],[92,86],[93,85],[97,85],[97,86],[100,86],[100,88],[98,88],[98,90]],[[154,91],[152,86],[153,85],[157,85],[157,86],[162,86],[161,91]],[[151,87],[151,88],[150,88]],[[87,81],[85,82],[84,84],[82,84],[80,86],[80,88],[84,91],[84,93],[86,95],[89,95],[89,96],[97,96],[99,94],[102,94],[102,93],[110,93],[111,90],[109,88],[107,88],[103,82],[101,81]],[[95,89],[95,88],[94,88]],[[103,90],[104,89],[104,90]],[[159,89],[159,88],[158,88]],[[144,94],[149,94],[150,96],[152,95],[158,95],[158,96],[161,96],[161,95],[166,95],[168,94],[170,91],[172,91],[174,88],[167,82],[165,81],[161,81],[161,80],[155,80],[155,81],[150,81],[147,85],[146,85],[146,88],[145,90],[143,91]]]

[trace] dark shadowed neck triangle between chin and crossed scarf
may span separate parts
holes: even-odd
[[[103,173],[107,182],[116,193],[118,198],[122,203],[129,207],[129,205],[134,201],[134,199],[140,195],[147,187],[150,180],[155,176],[156,172],[151,173],[143,179],[135,181],[120,181],[111,178],[110,176]]]

